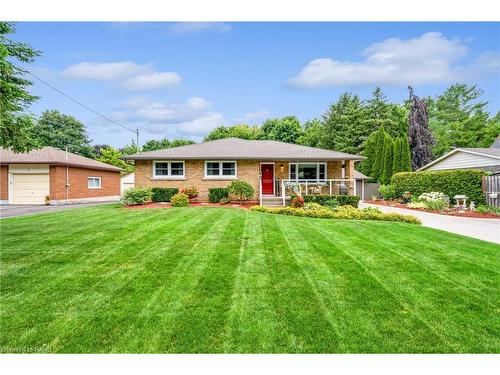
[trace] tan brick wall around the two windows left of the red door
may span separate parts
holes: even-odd
[[[240,160],[237,162],[239,180],[248,182],[255,189],[257,199],[259,192],[259,162],[256,160]],[[194,186],[199,191],[199,199],[208,200],[208,189],[212,187],[226,187],[233,180],[205,179],[205,162],[203,160],[186,160],[184,164],[185,179],[157,180],[152,179],[153,167],[151,160],[137,160],[135,162],[135,187],[176,187],[179,190]]]

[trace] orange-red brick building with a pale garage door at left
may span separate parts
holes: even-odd
[[[121,169],[53,147],[27,153],[0,149],[0,203],[117,201]]]

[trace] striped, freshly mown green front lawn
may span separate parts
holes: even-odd
[[[215,207],[0,226],[1,352],[500,351],[492,243]]]

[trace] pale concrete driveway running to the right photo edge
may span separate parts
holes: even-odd
[[[397,212],[400,214],[413,215],[422,220],[422,224],[426,227],[441,229],[447,232],[500,244],[500,219],[474,219],[469,217],[446,216],[363,202],[359,204],[359,207],[377,207],[383,212]]]

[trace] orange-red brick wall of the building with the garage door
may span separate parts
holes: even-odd
[[[69,196],[68,199],[109,197],[120,195],[120,172],[99,169],[68,168]],[[88,177],[101,177],[101,189],[89,189]],[[50,166],[50,198],[52,200],[66,199],[66,167]]]

